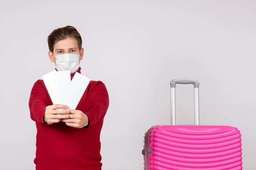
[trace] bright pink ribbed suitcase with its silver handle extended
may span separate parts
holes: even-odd
[[[195,125],[175,125],[176,84],[193,84]],[[199,82],[171,81],[171,125],[151,127],[144,136],[144,170],[241,170],[241,134],[236,127],[199,125]]]

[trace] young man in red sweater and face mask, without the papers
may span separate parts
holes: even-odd
[[[81,35],[76,28],[58,28],[48,36],[49,58],[56,70],[81,73]],[[68,96],[67,96],[68,97]],[[36,122],[36,170],[101,170],[100,132],[109,105],[106,86],[90,81],[76,109],[53,104],[43,80],[34,84],[29,98]]]

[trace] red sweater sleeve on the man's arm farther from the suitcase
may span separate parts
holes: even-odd
[[[43,81],[42,81],[43,82]],[[50,105],[47,92],[40,80],[32,87],[29,98],[30,117],[35,122],[44,123],[45,108]]]

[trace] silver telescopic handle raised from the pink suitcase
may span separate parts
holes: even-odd
[[[171,85],[171,125],[176,124],[176,112],[175,112],[175,88],[176,84],[193,84],[194,96],[195,96],[195,125],[199,125],[199,82],[192,79],[175,79],[172,80]]]

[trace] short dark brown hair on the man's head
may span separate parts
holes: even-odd
[[[74,26],[65,26],[52,31],[52,33],[47,38],[49,50],[53,52],[54,44],[68,37],[76,39],[78,48],[81,50],[82,38]]]

